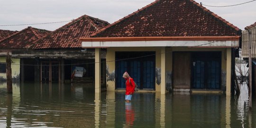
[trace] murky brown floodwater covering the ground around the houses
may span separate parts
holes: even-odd
[[[135,92],[94,94],[92,84],[0,83],[0,128],[256,128],[247,86],[223,94]]]

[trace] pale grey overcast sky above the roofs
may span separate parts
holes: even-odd
[[[153,1],[155,0],[0,0],[0,25],[70,21],[84,14],[113,23]],[[251,0],[195,1],[205,5],[223,6]],[[205,7],[241,30],[256,22],[256,1],[225,8]],[[22,30],[31,26],[53,31],[67,23],[0,26],[0,29]]]

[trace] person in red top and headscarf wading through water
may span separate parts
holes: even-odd
[[[135,83],[127,72],[125,72],[123,74],[123,78],[126,80],[126,82],[125,82],[125,85],[126,85],[125,101],[130,102],[131,98],[132,98],[132,94],[135,89]]]

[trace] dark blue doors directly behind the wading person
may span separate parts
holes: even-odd
[[[152,55],[152,56],[151,56]],[[155,52],[116,52],[116,88],[124,89],[124,72],[139,89],[155,89]]]

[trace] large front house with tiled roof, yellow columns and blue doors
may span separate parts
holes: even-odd
[[[81,40],[82,47],[95,48],[95,58],[107,48],[107,90],[125,88],[122,73],[128,71],[140,89],[229,95],[240,33],[193,0],[156,0]]]

